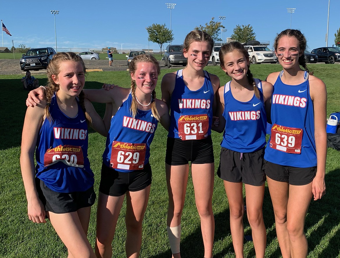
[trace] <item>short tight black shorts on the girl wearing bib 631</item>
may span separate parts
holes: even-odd
[[[168,165],[185,165],[214,163],[211,135],[202,140],[183,141],[168,137],[165,163]]]

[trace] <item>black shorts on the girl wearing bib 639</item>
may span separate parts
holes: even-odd
[[[306,185],[313,181],[317,167],[294,167],[283,166],[265,160],[263,169],[267,177],[279,181],[287,182],[291,185]]]

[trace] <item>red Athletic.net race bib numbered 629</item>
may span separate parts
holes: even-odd
[[[113,141],[110,166],[125,170],[144,168],[146,143],[128,143]]]

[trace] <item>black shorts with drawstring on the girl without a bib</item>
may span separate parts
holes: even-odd
[[[266,181],[262,170],[265,149],[255,152],[240,153],[221,148],[220,165],[217,175],[228,182],[260,186]]]

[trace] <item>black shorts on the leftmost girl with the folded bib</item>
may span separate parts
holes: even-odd
[[[48,188],[44,181],[35,178],[39,199],[45,211],[57,214],[76,212],[81,208],[92,206],[96,200],[93,185],[84,192],[59,193]]]

